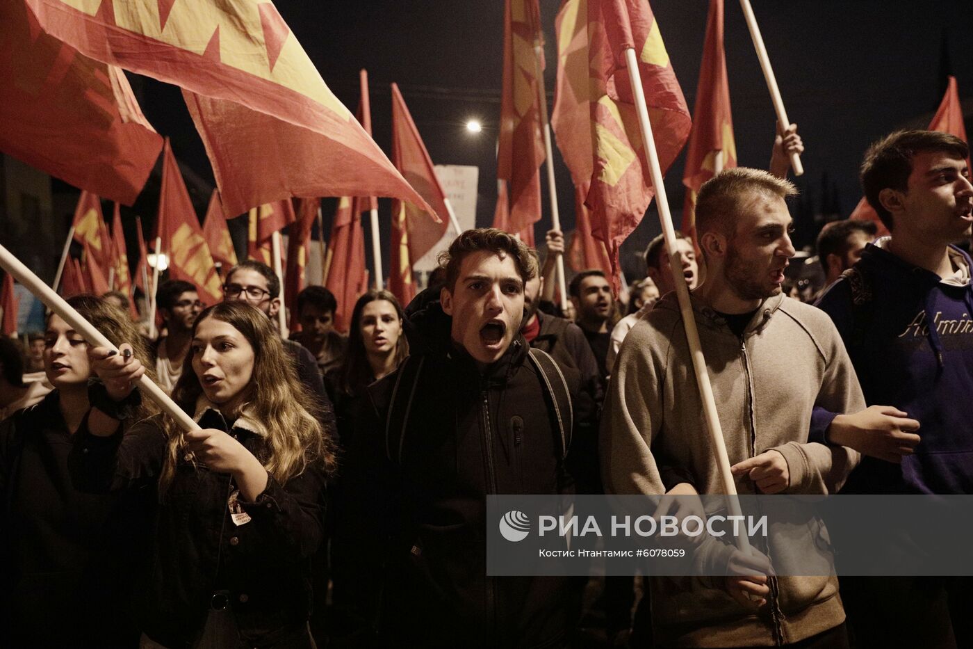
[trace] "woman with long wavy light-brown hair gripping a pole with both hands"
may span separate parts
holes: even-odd
[[[172,398],[201,431],[160,415],[120,435],[144,368],[103,348],[90,357],[104,390],[72,451],[75,479],[160,491],[142,646],[312,646],[309,558],[334,453],[270,319],[245,302],[199,314]]]

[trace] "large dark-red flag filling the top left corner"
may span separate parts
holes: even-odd
[[[0,3],[0,150],[75,187],[131,205],[162,149],[125,73]]]

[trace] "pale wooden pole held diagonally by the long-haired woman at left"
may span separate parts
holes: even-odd
[[[118,348],[113,345],[108,338],[94,328],[87,320],[81,317],[77,311],[71,308],[67,302],[64,301],[60,295],[54,292],[50,286],[41,282],[40,278],[34,275],[30,269],[20,263],[20,260],[11,254],[10,250],[0,246],[0,266],[3,267],[8,273],[14,276],[14,278],[22,286],[26,286],[27,289],[34,294],[37,299],[44,302],[45,305],[55,314],[60,316],[60,318],[74,327],[74,330],[80,333],[89,345],[94,345],[97,347],[107,347],[108,349],[118,351]],[[152,401],[159,404],[162,411],[176,420],[176,423],[184,431],[198,431],[198,424],[193,421],[186,412],[183,411],[181,407],[176,405],[175,401],[169,399],[169,396],[162,392],[162,388],[152,382],[152,380],[147,375],[142,375],[142,378],[138,380],[138,387],[142,390],[142,393],[147,396]]]

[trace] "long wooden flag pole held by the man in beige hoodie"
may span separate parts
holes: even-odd
[[[635,51],[628,48],[625,51],[625,59],[629,68],[631,90],[635,95],[635,110],[638,113],[638,125],[641,127],[642,141],[645,142],[645,149],[648,154],[652,186],[656,190],[656,207],[659,208],[659,221],[663,226],[666,248],[675,250],[677,249],[675,228],[672,226],[672,215],[668,209],[666,185],[663,183],[662,168],[659,166],[659,154],[656,152],[656,141],[652,136],[652,125],[649,122],[649,111],[645,103],[645,94],[642,92],[642,80],[638,73],[638,59],[635,57]],[[723,429],[720,427],[719,414],[716,412],[716,400],[713,399],[713,388],[709,384],[709,374],[706,372],[706,360],[703,357],[703,347],[700,344],[700,332],[696,327],[693,305],[689,299],[689,286],[686,285],[686,278],[682,274],[682,266],[674,254],[669,256],[669,270],[672,273],[675,294],[679,300],[679,311],[682,314],[682,322],[686,327],[686,341],[689,343],[689,351],[693,359],[696,385],[700,390],[701,401],[703,401],[703,416],[706,421],[706,430],[709,433],[709,440],[716,454],[716,465],[719,470],[720,481],[723,483],[723,490],[729,496],[727,498],[727,505],[731,514],[741,515],[739,500],[736,498],[737,485],[733,480],[733,474],[730,473],[730,458],[727,455],[726,443],[723,440]],[[746,538],[746,535],[737,535],[736,541],[739,551],[749,554],[750,542]]]

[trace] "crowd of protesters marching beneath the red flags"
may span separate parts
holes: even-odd
[[[596,270],[554,304],[559,231],[542,264],[479,229],[410,305],[361,295],[346,336],[308,286],[282,338],[279,280],[245,261],[219,304],[163,283],[156,340],[122,294],[69,300],[118,352],[53,313],[28,353],[0,340],[0,646],[973,646],[968,579],[776,576],[726,544],[741,568],[705,579],[486,574],[488,494],[723,493],[670,264],[739,493],[973,490],[966,144],[874,144],[890,235],[831,224],[811,287],[788,281],[800,149],[792,128],[771,172],[706,182],[696,238],[654,239],[624,305]]]

